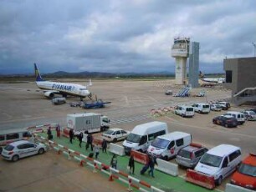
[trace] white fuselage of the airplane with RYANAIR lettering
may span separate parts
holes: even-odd
[[[59,83],[52,81],[37,81],[38,88],[48,91],[55,91],[63,94],[69,94],[79,97],[86,97],[90,95],[90,91],[83,85],[75,83]]]

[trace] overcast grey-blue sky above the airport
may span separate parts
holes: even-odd
[[[0,73],[174,72],[173,38],[200,43],[200,69],[253,57],[255,0],[0,0]]]

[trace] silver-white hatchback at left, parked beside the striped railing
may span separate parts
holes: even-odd
[[[18,161],[18,159],[31,156],[33,154],[44,154],[47,150],[45,144],[32,143],[28,140],[20,140],[8,144],[3,148],[3,159]]]

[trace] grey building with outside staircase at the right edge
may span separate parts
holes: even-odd
[[[256,104],[256,58],[226,58],[223,63],[224,87],[232,90],[231,102]]]

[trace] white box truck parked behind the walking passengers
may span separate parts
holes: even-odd
[[[74,129],[74,134],[79,134],[80,132],[100,132],[105,130],[106,122],[109,122],[109,119],[101,114],[84,113],[67,115],[68,128]]]

